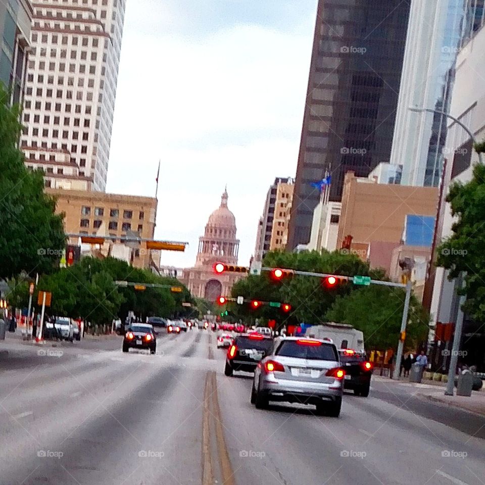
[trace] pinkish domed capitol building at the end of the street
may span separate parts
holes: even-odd
[[[219,296],[230,296],[232,285],[244,277],[239,273],[217,274],[216,263],[237,264],[239,239],[236,219],[227,207],[227,189],[221,205],[210,216],[204,235],[199,238],[196,265],[183,272],[182,282],[194,297],[215,302]]]

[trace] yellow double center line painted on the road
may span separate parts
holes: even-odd
[[[212,444],[214,438],[215,446],[213,447]],[[222,485],[235,485],[234,472],[232,470],[224,440],[222,416],[219,407],[219,399],[217,397],[216,373],[214,371],[209,371],[206,374],[202,415],[202,485],[214,484],[216,473],[215,454],[217,454],[219,458],[219,470],[222,478]]]

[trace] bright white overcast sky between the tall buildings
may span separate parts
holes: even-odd
[[[266,192],[295,176],[317,0],[129,0],[107,191],[154,196],[162,264],[195,263],[227,183],[248,264]]]

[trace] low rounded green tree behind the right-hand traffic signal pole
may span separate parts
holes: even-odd
[[[364,333],[367,349],[385,351],[399,341],[404,310],[402,288],[370,285],[338,297],[326,313],[326,320],[348,323]],[[415,348],[427,336],[429,314],[411,296],[406,329],[406,345]]]

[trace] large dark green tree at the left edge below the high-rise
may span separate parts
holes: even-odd
[[[20,108],[9,98],[0,87],[0,278],[52,272],[65,247],[63,217],[44,193],[42,173],[24,165]]]

